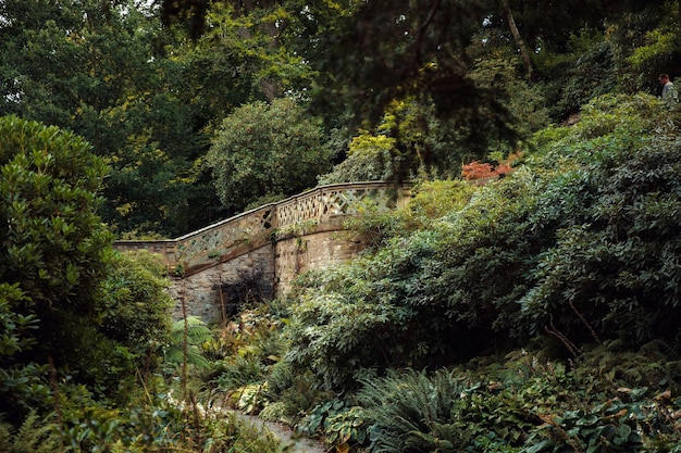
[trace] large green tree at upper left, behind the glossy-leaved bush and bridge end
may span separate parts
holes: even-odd
[[[101,215],[112,227],[173,236],[215,218],[194,165],[215,110],[186,38],[132,1],[8,0],[0,15],[0,114],[94,146],[111,167]]]

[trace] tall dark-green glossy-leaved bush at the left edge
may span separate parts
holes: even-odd
[[[0,367],[81,369],[112,241],[95,213],[106,165],[82,138],[16,116],[0,118],[0,137],[2,336],[16,339]]]

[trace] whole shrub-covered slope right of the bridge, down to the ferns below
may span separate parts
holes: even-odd
[[[680,119],[605,96],[498,181],[368,212],[213,382],[337,451],[679,451]]]

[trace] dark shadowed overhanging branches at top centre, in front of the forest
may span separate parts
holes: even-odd
[[[473,135],[480,133],[481,140],[496,126],[504,134],[503,101],[466,74],[467,47],[490,13],[485,7],[473,1],[432,8],[413,8],[407,1],[352,4],[333,33],[322,36],[326,52],[320,59],[315,102],[333,113],[340,99],[360,119],[377,123],[392,102],[417,99],[434,105],[442,117],[456,118],[460,130],[468,126]],[[493,117],[479,114],[486,105]]]

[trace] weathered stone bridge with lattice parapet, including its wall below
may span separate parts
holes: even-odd
[[[366,239],[347,230],[348,216],[400,207],[409,198],[410,186],[387,181],[322,186],[176,239],[114,247],[162,256],[176,319],[224,322],[244,302],[284,294],[306,270],[356,257]]]

